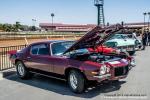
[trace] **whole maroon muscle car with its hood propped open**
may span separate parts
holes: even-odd
[[[45,41],[29,45],[10,57],[20,78],[31,73],[65,79],[70,89],[82,93],[88,81],[103,82],[127,77],[131,67],[128,56],[89,52],[102,45],[121,26],[95,27],[77,42]]]

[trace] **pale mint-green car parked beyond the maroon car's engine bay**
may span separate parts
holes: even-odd
[[[136,52],[136,41],[129,38],[127,34],[115,34],[104,44],[108,47],[118,48],[120,51],[127,51],[130,55]]]

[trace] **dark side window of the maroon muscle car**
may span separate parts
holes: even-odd
[[[49,55],[48,45],[40,44],[40,45],[32,46],[31,54],[33,54],[33,55]]]

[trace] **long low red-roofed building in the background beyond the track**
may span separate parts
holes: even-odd
[[[74,25],[74,24],[62,24],[62,23],[40,23],[41,29],[46,31],[55,31],[55,32],[87,32],[90,29],[94,28],[96,25],[87,24],[87,25]],[[128,29],[143,29],[148,27],[148,22],[143,23],[124,23],[124,27]]]

